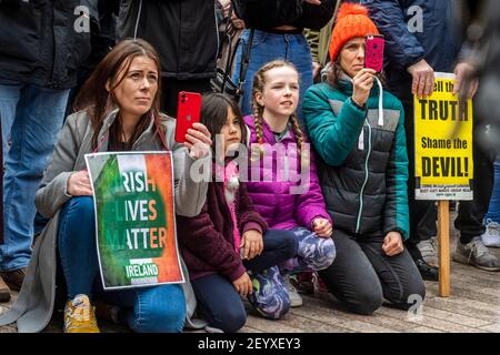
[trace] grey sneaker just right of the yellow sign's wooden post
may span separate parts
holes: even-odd
[[[459,241],[452,257],[456,262],[486,271],[500,271],[500,261],[484,246],[480,236],[474,236],[468,244]]]

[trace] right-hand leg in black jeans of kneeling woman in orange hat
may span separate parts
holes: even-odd
[[[374,236],[362,239],[359,245],[380,278],[386,300],[398,308],[408,310],[416,298],[423,301],[426,285],[406,250],[398,255],[387,256],[382,243],[382,236]]]

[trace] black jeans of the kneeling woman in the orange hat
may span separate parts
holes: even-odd
[[[337,258],[318,274],[350,312],[371,314],[383,298],[408,310],[410,295],[426,296],[426,286],[407,250],[393,256],[382,251],[383,236],[354,237],[334,230]],[[410,303],[409,303],[410,302]]]

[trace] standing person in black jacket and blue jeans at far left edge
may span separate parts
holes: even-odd
[[[3,243],[0,276],[19,290],[31,256],[34,194],[90,53],[97,0],[0,0]],[[0,281],[0,301],[10,298]]]

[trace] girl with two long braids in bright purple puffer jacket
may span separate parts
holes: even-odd
[[[316,163],[297,120],[298,102],[296,67],[276,60],[256,73],[253,115],[244,118],[252,151],[247,189],[270,227],[294,233],[299,251],[289,261],[292,272],[323,270],[336,257]],[[287,286],[290,305],[300,306],[302,300],[288,278]]]

